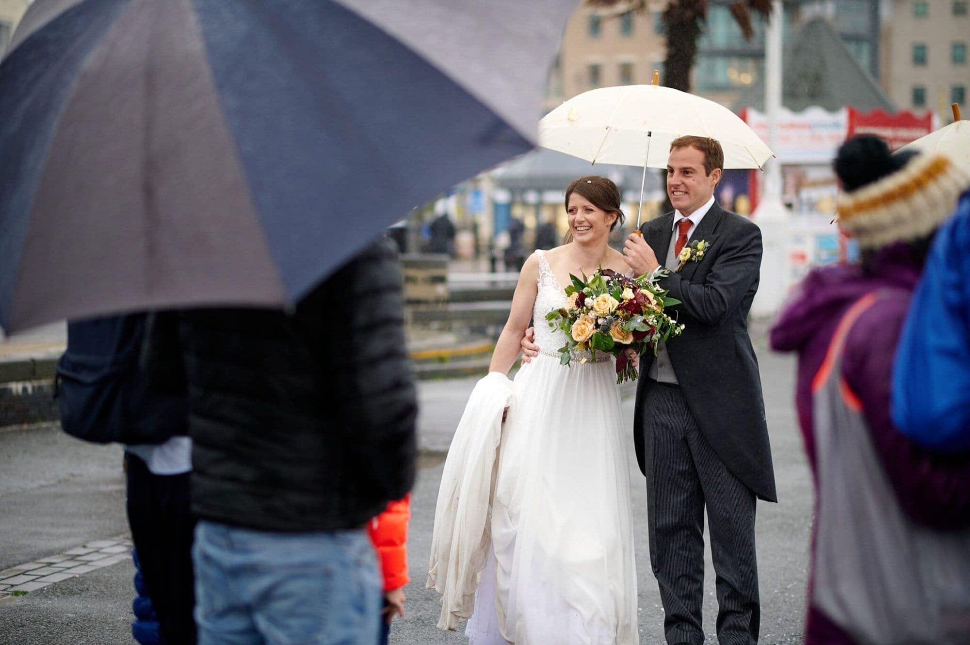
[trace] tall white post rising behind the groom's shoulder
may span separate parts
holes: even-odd
[[[782,25],[781,0],[771,3],[771,18],[764,39],[764,108],[768,126],[768,147],[778,150],[778,117],[782,105]],[[791,212],[782,202],[782,168],[778,159],[764,166],[763,190],[753,217],[760,226],[764,252],[758,295],[751,313],[771,317],[778,313],[789,287],[789,241]]]

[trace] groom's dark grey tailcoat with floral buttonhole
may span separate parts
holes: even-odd
[[[673,212],[641,227],[644,240],[665,258],[673,235]],[[727,469],[762,500],[777,501],[771,447],[764,421],[758,359],[748,337],[748,311],[758,291],[761,231],[751,220],[715,202],[691,240],[710,242],[699,262],[660,280],[672,298],[684,333],[667,342],[667,352],[687,405],[700,431]],[[654,361],[640,360],[633,438],[640,471],[647,373]]]

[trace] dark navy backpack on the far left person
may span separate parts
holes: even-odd
[[[186,434],[185,398],[150,389],[140,370],[145,333],[144,313],[68,324],[55,395],[65,433],[96,443],[161,443]]]

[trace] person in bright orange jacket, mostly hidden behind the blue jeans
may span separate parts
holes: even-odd
[[[411,495],[391,501],[368,525],[384,576],[384,609],[381,612],[380,643],[387,645],[395,614],[404,618],[404,586],[407,577],[407,521],[411,517]]]

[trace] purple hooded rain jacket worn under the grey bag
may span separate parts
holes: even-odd
[[[829,341],[845,311],[876,289],[912,293],[920,263],[905,243],[877,252],[865,267],[825,267],[809,274],[792,294],[770,343],[776,351],[798,353],[795,406],[805,450],[817,476],[812,422],[812,379],[822,366]],[[906,320],[907,300],[880,300],[866,310],[846,339],[842,364],[848,385],[862,403],[873,444],[886,468],[900,507],[914,521],[946,529],[970,523],[970,460],[934,455],[892,424],[892,364]],[[820,611],[809,608],[806,643],[852,643]]]

